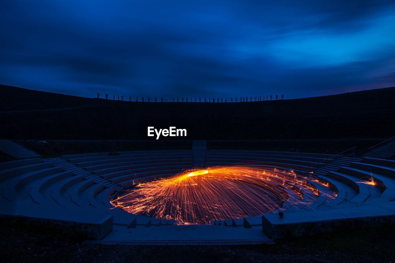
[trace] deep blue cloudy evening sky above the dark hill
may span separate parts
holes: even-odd
[[[395,86],[391,2],[3,0],[0,83],[87,97]]]

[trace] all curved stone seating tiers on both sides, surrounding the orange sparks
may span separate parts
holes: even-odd
[[[284,206],[278,212],[335,211],[393,203],[395,161],[337,156],[334,162],[330,157],[299,152],[207,150],[205,165],[270,165],[295,171],[309,171],[314,165],[314,174],[309,174],[312,178],[308,184],[318,192],[318,198],[314,197],[316,201]],[[127,213],[114,208],[109,201],[119,191],[135,184],[135,180],[168,177],[191,169],[193,164],[191,150],[75,154],[0,163],[2,214],[37,213],[36,216],[40,216],[45,207],[46,213],[51,213],[53,208],[58,216],[62,213],[107,213],[113,216],[114,224],[125,227],[173,224],[171,220]],[[331,191],[336,193],[334,199],[328,197]],[[306,200],[312,199],[309,192],[302,193]],[[261,216],[254,216],[214,224],[259,227],[262,221]]]

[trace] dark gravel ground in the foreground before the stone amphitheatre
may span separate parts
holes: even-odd
[[[391,262],[395,226],[248,246],[87,245],[72,231],[0,222],[2,262]]]

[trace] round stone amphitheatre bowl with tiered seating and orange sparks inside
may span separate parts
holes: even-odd
[[[169,150],[0,163],[1,214],[111,244],[253,244],[394,222],[395,162],[329,157],[207,150],[194,168],[192,150]]]

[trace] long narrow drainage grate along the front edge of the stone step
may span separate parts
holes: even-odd
[[[87,240],[85,244],[126,245],[126,246],[177,246],[177,245],[256,245],[275,244],[269,240],[163,240],[163,241],[132,241],[132,240]]]

